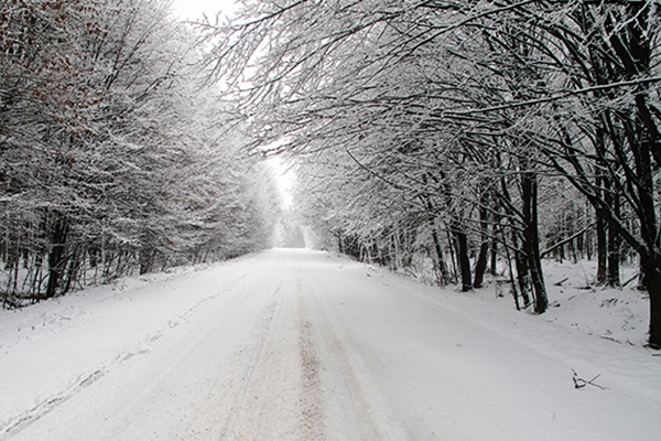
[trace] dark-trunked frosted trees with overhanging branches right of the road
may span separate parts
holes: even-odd
[[[253,146],[302,164],[322,239],[393,266],[424,251],[463,290],[505,261],[517,306],[537,313],[543,257],[595,258],[609,286],[635,258],[659,348],[660,13],[652,0],[251,1],[202,31]]]

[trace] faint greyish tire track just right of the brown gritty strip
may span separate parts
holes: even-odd
[[[326,365],[321,378],[328,390],[324,405],[328,426],[336,431],[328,437],[366,441],[427,439],[408,421],[410,409],[402,409],[394,400],[379,354],[361,343],[359,333],[346,333],[349,329],[343,318],[344,303],[336,301],[342,283],[319,283],[327,277],[322,272],[311,271],[307,276],[311,319],[323,331],[317,341],[324,355],[321,363]]]

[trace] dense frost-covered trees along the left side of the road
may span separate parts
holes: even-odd
[[[195,43],[165,1],[1,2],[4,306],[269,246],[273,179]]]

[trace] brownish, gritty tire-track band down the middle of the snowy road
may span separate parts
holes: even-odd
[[[267,308],[250,338],[257,343],[243,357],[250,362],[232,387],[236,398],[219,440],[327,439],[318,337],[297,276],[296,266],[288,269],[275,308]]]

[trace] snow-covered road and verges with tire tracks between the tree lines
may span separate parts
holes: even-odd
[[[0,439],[661,439],[660,357],[469,295],[275,249],[4,311]]]

